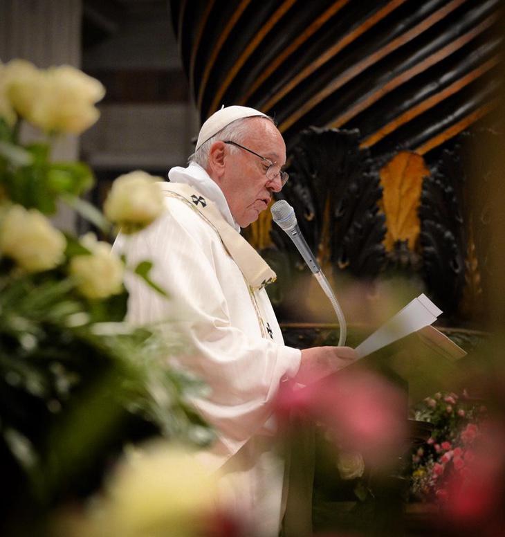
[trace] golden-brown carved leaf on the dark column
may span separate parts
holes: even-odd
[[[386,217],[384,246],[388,252],[394,251],[397,242],[407,242],[411,251],[416,250],[421,188],[429,173],[423,157],[407,151],[396,154],[380,170],[383,199],[379,207]]]

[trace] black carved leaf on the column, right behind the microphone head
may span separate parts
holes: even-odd
[[[283,190],[293,205],[309,246],[338,271],[374,277],[383,268],[384,217],[378,172],[357,130],[302,131],[291,155],[290,181]],[[292,251],[289,239],[273,228],[273,240]]]

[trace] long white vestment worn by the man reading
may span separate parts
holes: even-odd
[[[131,265],[154,262],[152,279],[170,299],[128,277],[128,317],[136,324],[176,321],[192,345],[183,365],[210,387],[208,397],[195,401],[218,433],[205,462],[220,468],[223,493],[237,511],[252,512],[258,535],[277,536],[284,468],[273,453],[271,403],[279,382],[300,367],[300,350],[284,345],[264,287],[253,289],[244,262],[241,270],[217,228],[199,213],[210,203],[227,235],[244,240],[217,184],[195,163],[173,168],[169,179],[163,185],[190,185],[194,198],[166,197],[163,216],[132,237],[120,235],[115,248]]]

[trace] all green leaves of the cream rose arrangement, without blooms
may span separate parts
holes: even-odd
[[[0,215],[12,203],[51,215],[64,202],[109,234],[111,223],[80,198],[93,185],[90,168],[52,162],[50,139],[21,145],[18,130],[0,118]],[[190,404],[205,386],[174,367],[181,341],[166,322],[125,322],[124,287],[86,298],[71,262],[95,251],[71,233],[65,238],[64,260],[52,270],[27,273],[0,250],[0,468],[4,489],[15,491],[2,515],[16,501],[43,511],[95,491],[128,442],[163,435],[202,446],[213,439]],[[141,262],[134,273],[166,296],[151,268]]]

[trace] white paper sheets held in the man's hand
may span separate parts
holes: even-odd
[[[441,309],[426,295],[421,294],[374,331],[374,334],[360,343],[355,350],[358,356],[363,358],[389,343],[431,325],[441,313]]]

